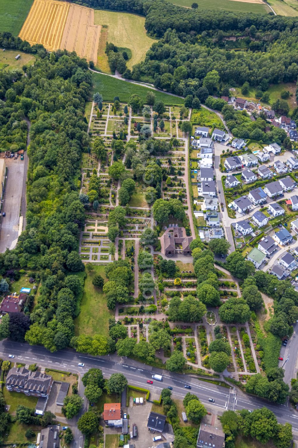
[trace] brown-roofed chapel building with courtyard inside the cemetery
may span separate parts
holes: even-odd
[[[184,227],[167,228],[160,238],[161,253],[168,256],[177,254],[190,255],[189,244],[192,237],[187,237]],[[179,247],[176,248],[176,245]]]

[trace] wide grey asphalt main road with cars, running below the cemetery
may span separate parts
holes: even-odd
[[[8,354],[13,354],[16,362],[25,362],[26,364],[36,362],[42,367],[67,370],[80,375],[92,367],[100,368],[105,378],[109,378],[113,373],[121,372],[126,376],[129,384],[150,389],[155,394],[160,394],[163,388],[171,386],[173,396],[180,399],[188,392],[188,389],[185,389],[185,384],[187,384],[191,386],[191,392],[197,395],[211,411],[216,410],[221,414],[227,409],[253,410],[266,406],[274,412],[280,423],[289,422],[293,426],[293,432],[298,434],[298,414],[288,404],[274,405],[260,398],[244,394],[232,386],[226,388],[213,383],[206,383],[195,375],[181,375],[155,369],[141,362],[122,359],[116,355],[93,357],[68,349],[50,353],[44,347],[3,340],[0,342],[0,356],[3,359],[8,359]],[[79,362],[84,363],[84,367],[79,367]],[[162,374],[163,381],[153,380],[153,384],[147,384],[147,379],[151,379],[153,373]],[[210,403],[209,398],[213,398],[214,403]],[[76,434],[80,435],[78,431],[76,431]],[[74,448],[78,447],[79,438],[76,437]]]

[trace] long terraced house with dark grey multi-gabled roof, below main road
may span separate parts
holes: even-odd
[[[5,386],[8,391],[23,392],[29,396],[47,397],[53,384],[53,378],[38,370],[31,372],[25,367],[13,367],[9,370]]]

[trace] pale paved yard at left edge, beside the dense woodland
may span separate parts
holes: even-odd
[[[1,253],[6,249],[13,249],[17,244],[25,160],[21,160],[20,157],[17,160],[5,159],[5,163],[7,177],[1,211],[5,211],[6,216],[1,215],[0,218]]]

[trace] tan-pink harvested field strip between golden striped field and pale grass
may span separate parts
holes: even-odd
[[[60,48],[97,62],[101,26],[94,25],[94,9],[70,4]]]

